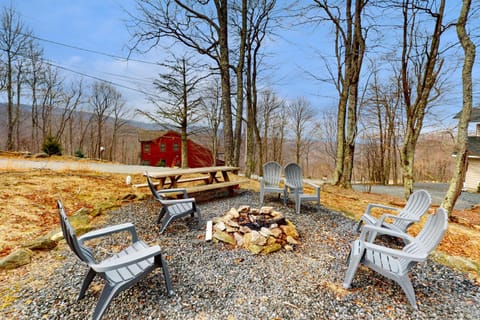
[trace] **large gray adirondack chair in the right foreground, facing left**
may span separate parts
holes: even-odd
[[[445,209],[438,208],[436,214],[431,214],[428,217],[423,229],[416,237],[374,225],[364,226],[360,238],[352,244],[343,287],[350,288],[353,277],[361,263],[397,282],[405,292],[412,307],[417,309],[415,291],[408,273],[416,263],[425,261],[440,243],[447,230],[447,220],[448,216]],[[401,237],[407,245],[399,250],[374,244],[366,240],[367,233],[372,231]]]

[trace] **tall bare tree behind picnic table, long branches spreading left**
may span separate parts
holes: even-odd
[[[228,3],[227,0],[137,0],[138,15],[132,15],[135,29],[133,48],[148,43],[151,49],[159,44],[162,37],[167,37],[216,63],[222,86],[225,162],[236,165],[230,99]]]

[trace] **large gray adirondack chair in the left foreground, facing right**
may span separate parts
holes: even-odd
[[[148,246],[139,240],[133,224],[124,223],[110,226],[77,237],[60,200],[57,201],[57,206],[64,239],[75,255],[88,266],[88,272],[77,300],[85,296],[85,292],[95,276],[98,275],[105,280],[105,286],[93,311],[92,319],[100,319],[113,298],[121,291],[136,284],[155,268],[162,268],[168,295],[174,294],[168,266],[160,247]],[[84,244],[87,240],[125,231],[130,232],[132,244],[103,261],[96,261],[92,250]]]

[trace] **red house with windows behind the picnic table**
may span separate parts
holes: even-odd
[[[182,159],[181,137],[175,131],[138,131],[141,143],[140,161],[143,165],[158,167],[179,167]],[[213,164],[212,152],[187,140],[188,167],[210,167]]]

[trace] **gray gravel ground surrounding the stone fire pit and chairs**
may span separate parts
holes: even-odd
[[[161,270],[117,296],[103,319],[479,319],[480,288],[464,275],[432,260],[412,271],[419,309],[413,309],[394,282],[361,268],[350,290],[342,288],[354,221],[342,214],[303,206],[294,214],[267,198],[296,226],[301,245],[294,251],[252,255],[205,242],[195,219],[173,222],[158,235],[158,206],[152,200],[122,207],[106,224],[133,222],[141,238],[158,242],[168,260],[175,295],[168,297]],[[231,207],[258,205],[258,194],[200,204],[204,219]],[[67,208],[68,210],[68,208]],[[98,249],[118,245],[118,237]],[[103,286],[94,281],[76,301],[86,268],[65,246],[60,269],[45,275],[46,285],[23,288],[0,317],[5,319],[88,319]],[[104,251],[105,252],[105,251]]]

